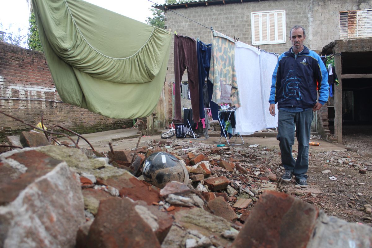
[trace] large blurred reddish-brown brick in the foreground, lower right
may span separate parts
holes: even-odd
[[[266,191],[232,247],[306,247],[317,216],[318,210],[301,199]]]

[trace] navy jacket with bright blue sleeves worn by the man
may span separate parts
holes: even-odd
[[[328,101],[329,84],[327,69],[320,56],[304,46],[295,57],[292,48],[279,56],[276,64],[269,103],[280,107],[310,108],[317,103],[317,81],[319,103]]]

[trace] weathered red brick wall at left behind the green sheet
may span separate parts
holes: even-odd
[[[97,115],[60,101],[44,53],[0,42],[1,111],[34,125],[41,121],[44,113],[47,128],[58,124],[78,133],[118,129],[133,123],[132,120]],[[0,140],[29,129],[27,125],[0,114]]]

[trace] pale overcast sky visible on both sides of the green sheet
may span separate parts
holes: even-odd
[[[31,1],[31,0],[30,0]],[[131,17],[140,22],[145,22],[148,16],[151,16],[149,8],[150,1],[147,0],[85,0],[96,4],[105,9],[117,12],[121,15]],[[156,3],[164,3],[164,0],[151,0]],[[30,6],[26,0],[0,0],[0,23],[3,27],[0,30],[9,32],[9,25],[12,25],[10,32],[17,32],[21,29],[22,34],[28,33],[28,19]]]

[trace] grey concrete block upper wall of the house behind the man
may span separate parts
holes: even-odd
[[[192,6],[192,5],[190,5]],[[281,54],[291,47],[289,31],[294,25],[301,25],[306,31],[304,45],[321,51],[324,45],[339,39],[339,12],[372,8],[372,0],[267,0],[243,3],[205,5],[172,9],[180,15],[195,20],[206,27],[237,37],[251,45],[251,12],[285,10],[286,43],[260,45],[260,49]],[[211,30],[185,19],[170,10],[166,11],[165,26],[171,32],[211,42]],[[174,81],[174,42],[168,62],[166,81]]]

